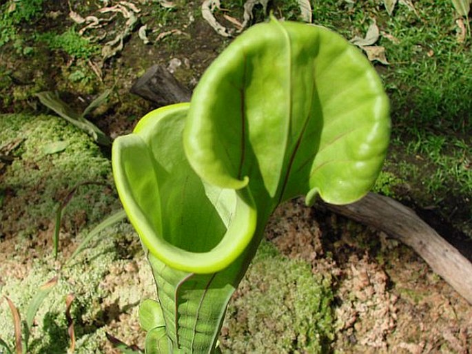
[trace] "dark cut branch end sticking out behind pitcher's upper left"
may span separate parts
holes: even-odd
[[[154,65],[132,85],[130,92],[159,106],[189,102],[192,93],[163,65]]]

